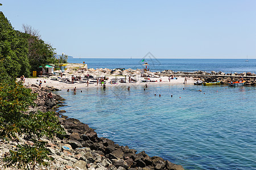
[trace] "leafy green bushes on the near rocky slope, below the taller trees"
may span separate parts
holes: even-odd
[[[14,80],[0,79],[0,139],[19,140],[19,135],[26,135],[32,144],[17,145],[16,150],[4,159],[7,167],[16,164],[19,168],[34,169],[36,163],[48,165],[49,152],[41,138],[52,138],[64,134],[55,113],[30,112],[36,95]]]

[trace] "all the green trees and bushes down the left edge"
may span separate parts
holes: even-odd
[[[47,165],[49,152],[42,138],[64,133],[55,113],[27,112],[36,95],[15,81],[17,76],[28,76],[39,66],[56,62],[53,50],[38,36],[15,31],[0,11],[0,139],[17,142],[4,159],[7,167]],[[18,143],[21,135],[32,144]]]

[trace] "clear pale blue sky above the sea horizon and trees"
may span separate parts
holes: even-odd
[[[256,58],[255,0],[0,3],[14,29],[75,58]]]

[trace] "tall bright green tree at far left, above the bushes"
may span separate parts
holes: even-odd
[[[15,31],[9,20],[0,11],[0,67],[10,76],[28,76],[27,41]]]

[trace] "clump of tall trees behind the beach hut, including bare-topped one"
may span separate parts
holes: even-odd
[[[54,48],[33,34],[30,27],[16,31],[0,11],[0,70],[10,76],[30,76],[47,63],[57,63]]]

